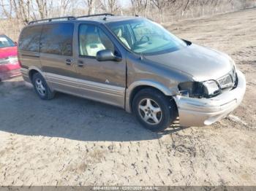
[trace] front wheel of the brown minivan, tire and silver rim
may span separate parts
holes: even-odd
[[[168,128],[178,115],[175,102],[153,88],[140,90],[135,95],[132,111],[145,128],[154,132]]]

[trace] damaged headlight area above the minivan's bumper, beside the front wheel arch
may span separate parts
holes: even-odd
[[[205,82],[181,82],[178,85],[181,95],[191,98],[209,98],[221,92],[219,85],[214,80]]]

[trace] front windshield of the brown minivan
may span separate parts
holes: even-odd
[[[111,31],[136,53],[160,53],[178,50],[187,44],[157,23],[135,19],[108,24]]]

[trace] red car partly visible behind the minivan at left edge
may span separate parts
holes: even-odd
[[[0,82],[20,75],[17,44],[4,34],[0,34]]]

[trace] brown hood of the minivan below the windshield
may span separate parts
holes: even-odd
[[[228,55],[196,44],[161,55],[145,55],[145,58],[190,74],[198,82],[218,79],[233,69]]]

